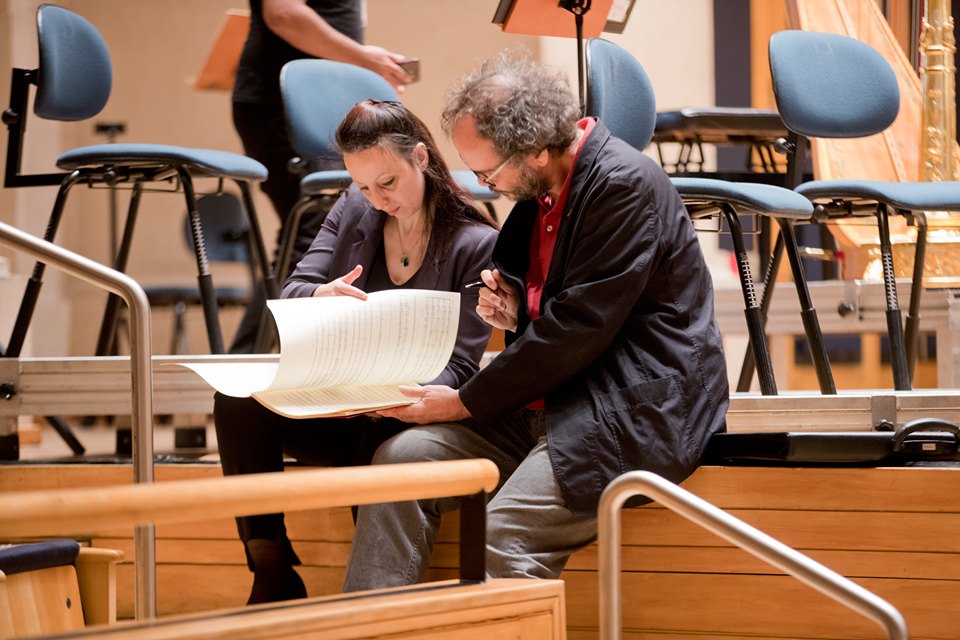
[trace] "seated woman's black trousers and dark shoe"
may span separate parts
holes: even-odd
[[[370,464],[377,448],[409,425],[389,418],[294,420],[253,398],[214,396],[214,424],[226,476],[283,471],[284,456],[317,466]],[[282,513],[237,518],[254,582],[248,604],[306,596]]]

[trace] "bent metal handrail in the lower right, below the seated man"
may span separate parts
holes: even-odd
[[[669,480],[649,471],[631,471],[607,486],[598,507],[600,640],[620,640],[620,520],[624,502],[635,495],[656,500],[671,511],[870,618],[883,627],[892,640],[907,640],[910,637],[903,616],[886,600]]]

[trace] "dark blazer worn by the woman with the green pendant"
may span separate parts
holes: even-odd
[[[367,201],[351,185],[330,210],[310,249],[283,286],[284,298],[308,297],[319,284],[326,284],[362,265],[363,273],[353,283],[366,290],[367,276],[383,243],[387,215]],[[439,217],[439,216],[438,216]],[[497,240],[493,227],[474,222],[458,223],[449,254],[436,264],[437,234],[431,234],[423,266],[413,276],[416,289],[460,293],[460,328],[450,362],[430,384],[459,388],[477,372],[480,358],[490,340],[490,326],[476,313],[477,290],[463,286],[480,279],[480,271],[491,266],[490,256]]]

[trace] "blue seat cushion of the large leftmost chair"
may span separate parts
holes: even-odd
[[[57,159],[67,171],[101,165],[163,166],[184,165],[193,175],[262,182],[267,169],[238,153],[215,149],[192,149],[165,144],[97,144],[72,149]]]

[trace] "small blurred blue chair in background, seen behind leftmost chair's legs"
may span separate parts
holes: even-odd
[[[240,264],[246,267],[250,274],[250,281],[246,285],[213,288],[217,308],[245,307],[250,302],[251,287],[256,282],[256,265],[250,255],[250,227],[243,212],[243,205],[236,195],[224,192],[197,198],[197,210],[203,226],[207,260],[210,263]],[[189,214],[183,218],[183,242],[191,253],[195,250],[193,224]],[[150,301],[151,309],[173,309],[170,353],[190,353],[186,314],[190,307],[202,306],[200,290],[195,286],[174,284],[146,286],[144,292]]]

